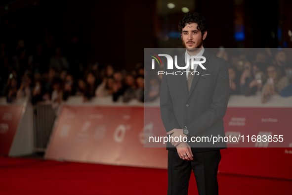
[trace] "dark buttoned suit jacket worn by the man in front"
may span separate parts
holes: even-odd
[[[160,111],[166,131],[187,127],[190,132],[187,143],[192,152],[210,151],[227,148],[225,142],[213,144],[213,137],[225,137],[223,117],[226,113],[229,97],[228,63],[205,49],[203,63],[206,70],[199,65],[200,74],[194,76],[190,92],[188,91],[186,73],[178,76],[163,74],[160,91]],[[184,55],[179,56],[178,66],[185,66]],[[165,72],[185,71],[173,66]],[[192,142],[191,137],[209,137],[210,142]],[[193,138],[194,140],[194,138]],[[167,149],[176,151],[176,147],[167,143]]]

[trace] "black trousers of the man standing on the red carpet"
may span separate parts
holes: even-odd
[[[194,160],[183,160],[176,151],[168,150],[167,195],[187,195],[193,170],[199,195],[218,195],[217,172],[220,150],[193,153]]]

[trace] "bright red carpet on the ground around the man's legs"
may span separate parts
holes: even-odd
[[[197,195],[192,174],[189,195]],[[218,174],[220,195],[292,195],[292,181]],[[0,195],[166,195],[167,170],[0,157]]]

